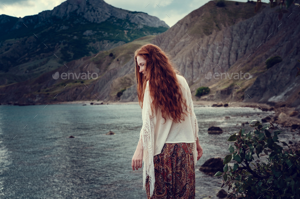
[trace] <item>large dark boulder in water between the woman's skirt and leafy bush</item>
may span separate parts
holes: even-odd
[[[223,172],[223,160],[221,157],[212,157],[200,166],[200,171],[209,175],[215,175],[218,171]]]

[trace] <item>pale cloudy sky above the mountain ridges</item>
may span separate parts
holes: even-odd
[[[164,0],[162,2],[141,0],[104,1],[116,8],[145,12],[149,15],[156,16],[160,20],[165,21],[170,27],[187,16],[193,10],[198,9],[209,2],[208,0]],[[65,2],[65,0],[0,0],[0,2],[0,14],[24,17],[28,15],[36,15],[45,10],[52,10],[54,7]],[[247,0],[238,0],[237,2],[247,2]],[[262,2],[269,3],[269,0],[262,0]]]

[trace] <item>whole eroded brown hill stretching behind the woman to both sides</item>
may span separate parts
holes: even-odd
[[[144,36],[73,60],[66,64],[68,68],[61,66],[23,83],[2,86],[0,102],[137,101],[134,51],[143,44],[152,43],[171,56],[175,67],[187,79],[193,96],[197,88],[207,86],[211,92],[201,99],[286,103],[300,108],[297,103],[299,78],[295,77],[300,46],[296,39],[299,14],[294,14],[297,8],[291,6],[289,13],[278,20],[275,9],[267,4],[255,14],[255,4],[251,2],[225,1],[225,7],[218,7],[216,3],[208,2],[161,34]],[[280,56],[282,62],[267,69],[265,61],[275,55]],[[55,80],[52,77],[55,72],[78,74],[87,70],[96,72],[99,77],[87,80]],[[209,72],[226,72],[229,76],[248,72],[250,76],[246,78],[250,78],[205,78]]]

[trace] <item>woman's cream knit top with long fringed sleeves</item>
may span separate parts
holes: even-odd
[[[198,138],[198,123],[196,115],[194,113],[194,106],[192,101],[192,95],[190,87],[185,79],[185,77],[176,74],[179,84],[181,85],[183,97],[187,100],[188,105],[187,113],[188,116],[184,114],[185,121],[182,123],[174,123],[168,117],[166,121],[162,118],[161,111],[155,114],[154,117],[151,115],[151,103],[153,99],[151,98],[149,92],[149,82],[147,82],[143,107],[142,107],[142,120],[143,126],[140,131],[140,141],[143,149],[143,190],[145,190],[146,176],[149,176],[150,192],[151,196],[154,191],[155,184],[155,172],[154,172],[154,156],[160,154],[165,143],[193,143],[193,156],[194,165],[197,163],[197,147],[196,141]],[[185,108],[185,106],[183,106]],[[185,109],[184,109],[185,110]],[[165,124],[163,124],[165,123]]]

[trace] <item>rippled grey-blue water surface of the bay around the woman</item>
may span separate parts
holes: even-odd
[[[203,148],[196,165],[196,195],[217,198],[222,179],[203,174],[200,166],[211,157],[224,158],[229,153],[225,131],[232,134],[245,128],[248,132],[251,128],[241,123],[260,120],[258,113],[264,117],[273,112],[196,107]],[[207,134],[211,126],[221,127],[224,133]],[[138,104],[2,105],[0,197],[147,198],[142,169],[131,168],[141,127]],[[105,135],[109,131],[115,135]],[[75,138],[69,138],[71,135]]]

